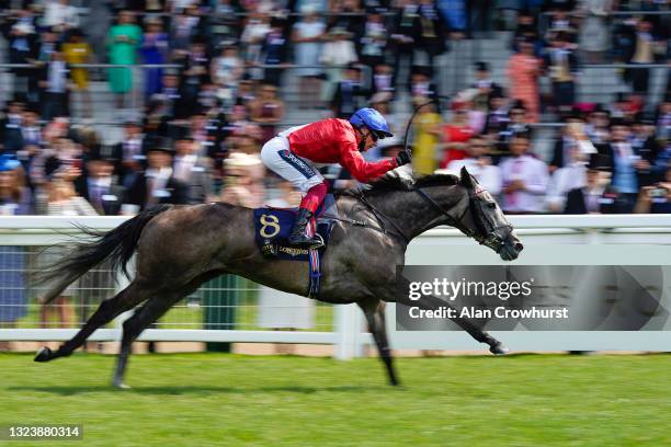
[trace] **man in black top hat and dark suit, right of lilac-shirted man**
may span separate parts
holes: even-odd
[[[606,156],[592,153],[587,165],[585,185],[567,194],[564,214],[614,214],[618,194],[611,186],[611,162]]]

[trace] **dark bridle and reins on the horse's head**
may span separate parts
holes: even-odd
[[[482,205],[476,200],[476,197],[484,193],[485,188],[479,188],[477,191],[467,190],[468,191],[468,208],[464,209],[464,213],[458,218],[454,218],[445,208],[443,208],[437,202],[431,198],[422,188],[412,188],[416,191],[420,197],[424,199],[424,202],[431,204],[439,213],[447,218],[447,222],[462,231],[469,238],[478,241],[480,245],[488,247],[499,253],[505,243],[505,238],[512,232],[511,225],[500,225],[496,226],[482,211]],[[474,213],[474,222],[479,231],[473,230],[466,227],[463,222],[464,216],[468,209],[471,209]],[[508,230],[504,233],[501,230]]]

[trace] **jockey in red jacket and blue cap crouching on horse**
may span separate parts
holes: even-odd
[[[350,121],[322,119],[305,126],[292,127],[269,140],[261,149],[261,160],[271,171],[291,182],[300,193],[298,216],[288,242],[292,245],[318,249],[323,245],[319,236],[307,237],[305,230],[327,194],[323,176],[312,165],[340,163],[362,183],[377,179],[385,172],[410,162],[410,154],[369,163],[361,152],[371,149],[378,139],[391,137],[384,116],[374,108],[361,108]]]

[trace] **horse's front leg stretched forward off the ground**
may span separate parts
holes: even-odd
[[[386,293],[380,293],[377,296],[384,297],[385,301],[388,302],[398,302],[405,306],[419,307],[424,310],[437,310],[441,307],[447,307],[454,309],[453,306],[447,301],[443,301],[440,298],[436,298],[432,295],[423,296],[422,299],[418,301],[413,301],[408,297],[408,290],[410,290],[410,282],[406,278],[401,278],[397,280],[394,285],[391,285]],[[458,314],[458,312],[455,312]],[[477,340],[480,343],[487,343],[489,345],[489,352],[492,354],[508,354],[509,349],[503,345],[503,343],[499,342],[497,339],[488,334],[478,328],[473,321],[467,318],[453,318],[454,321],[459,328],[464,331],[468,332],[470,336]]]

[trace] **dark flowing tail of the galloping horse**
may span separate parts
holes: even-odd
[[[127,264],[135,253],[135,247],[143,229],[149,220],[171,207],[172,205],[151,207],[110,231],[96,231],[78,226],[92,239],[76,242],[64,259],[58,260],[37,275],[38,283],[57,280],[56,285],[44,296],[43,302],[48,303],[54,300],[77,278],[105,260],[111,263],[113,272],[121,268],[128,277]],[[68,245],[71,245],[71,242],[68,242]]]

